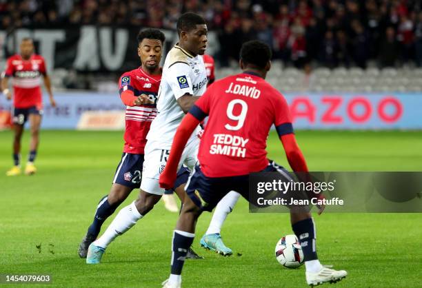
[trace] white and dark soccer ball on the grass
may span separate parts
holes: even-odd
[[[277,261],[284,267],[297,268],[303,263],[301,243],[295,235],[286,235],[277,242],[275,248]]]

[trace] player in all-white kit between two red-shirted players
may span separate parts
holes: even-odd
[[[165,58],[157,102],[158,114],[147,136],[141,192],[137,200],[121,209],[106,232],[90,245],[86,258],[88,264],[100,263],[112,240],[133,227],[160,200],[164,189],[159,187],[159,176],[170,154],[174,134],[185,113],[205,92],[207,73],[201,56],[208,41],[205,20],[197,14],[185,13],[177,22],[177,32],[179,43]],[[197,163],[197,132],[190,137],[180,165],[184,163],[193,168]]]

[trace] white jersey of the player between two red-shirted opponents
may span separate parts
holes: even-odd
[[[151,123],[148,143],[153,142],[160,149],[170,150],[177,127],[185,116],[177,99],[186,93],[201,96],[206,87],[207,72],[202,56],[194,57],[179,45],[174,45],[165,57],[157,101],[158,114]],[[197,137],[198,131],[199,127],[188,143]]]

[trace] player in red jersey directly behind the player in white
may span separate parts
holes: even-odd
[[[141,184],[146,135],[152,119],[157,116],[157,94],[161,83],[159,63],[165,36],[160,30],[145,29],[139,32],[137,40],[141,67],[123,73],[119,79],[119,94],[126,105],[123,154],[110,193],[99,201],[94,220],[79,244],[81,258],[86,258],[88,247],[99,235],[104,221]],[[183,186],[188,176],[188,169],[179,170],[179,182],[174,189],[177,194],[184,195]]]

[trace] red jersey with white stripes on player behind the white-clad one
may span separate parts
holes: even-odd
[[[134,96],[147,94],[154,104],[126,107],[125,114],[125,146],[123,152],[143,154],[146,135],[150,131],[151,121],[157,116],[157,94],[161,82],[161,75],[150,75],[137,68],[125,72],[119,79],[119,94],[125,90],[132,90]]]

